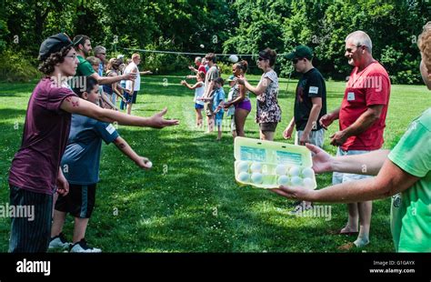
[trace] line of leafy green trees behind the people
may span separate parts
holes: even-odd
[[[315,65],[328,79],[350,73],[344,57],[346,35],[364,30],[373,55],[392,82],[420,83],[417,35],[431,19],[431,0],[2,0],[0,80],[38,76],[38,48],[58,32],[89,35],[109,55],[123,48],[197,53],[256,54],[269,46],[283,54],[296,45],[315,51]],[[204,48],[201,47],[204,45]],[[109,55],[107,57],[109,57]],[[186,70],[190,55],[144,54],[144,66],[165,74]],[[245,57],[251,65],[256,58]],[[220,65],[230,69],[226,59]],[[288,76],[282,56],[276,70]],[[259,73],[256,67],[251,72]]]

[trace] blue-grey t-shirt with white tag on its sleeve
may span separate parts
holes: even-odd
[[[75,185],[97,183],[102,139],[109,144],[118,136],[111,124],[86,116],[72,115],[69,140],[61,161],[67,181]]]

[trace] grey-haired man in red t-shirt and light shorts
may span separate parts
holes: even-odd
[[[322,116],[320,124],[327,128],[339,119],[339,131],[330,136],[331,145],[338,146],[337,155],[359,155],[383,145],[391,82],[385,68],[373,58],[372,42],[365,32],[347,35],[345,56],[348,64],[355,67],[349,76],[341,108]],[[366,172],[366,166],[363,170]],[[370,176],[335,172],[333,185],[366,177]],[[372,202],[352,203],[347,207],[346,227],[337,234],[359,234],[353,244],[341,248],[364,247],[369,243]]]

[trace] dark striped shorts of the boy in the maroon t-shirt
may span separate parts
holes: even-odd
[[[33,212],[28,217],[12,217],[9,252],[45,253],[51,237],[53,196],[10,186],[10,206],[32,207]]]

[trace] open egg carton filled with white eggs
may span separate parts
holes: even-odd
[[[235,156],[236,181],[241,185],[316,189],[311,153],[305,146],[236,137]]]

